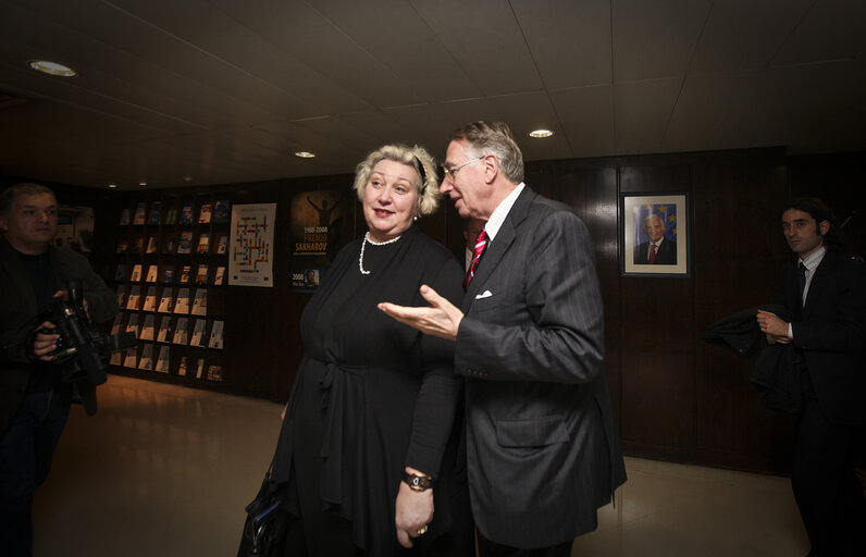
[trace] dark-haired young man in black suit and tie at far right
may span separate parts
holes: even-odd
[[[790,200],[782,231],[797,255],[782,269],[776,304],[785,322],[758,311],[760,330],[802,356],[791,484],[809,557],[866,555],[866,499],[855,473],[866,425],[866,267],[836,247],[832,213],[817,198]]]

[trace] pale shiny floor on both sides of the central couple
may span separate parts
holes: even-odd
[[[73,408],[34,510],[37,557],[234,556],[282,406],[110,376]],[[787,479],[629,458],[617,507],[574,556],[799,557]]]

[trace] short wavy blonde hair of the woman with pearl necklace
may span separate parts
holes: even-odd
[[[370,174],[380,161],[395,161],[411,166],[418,173],[416,187],[418,188],[418,214],[431,214],[440,206],[440,184],[436,174],[436,162],[426,152],[426,149],[413,145],[409,147],[403,144],[383,145],[375,151],[367,156],[358,163],[355,169],[355,185],[352,188],[358,191],[358,200],[363,201],[363,193],[370,182]],[[423,165],[423,172],[420,166]],[[423,178],[423,184],[422,182]]]

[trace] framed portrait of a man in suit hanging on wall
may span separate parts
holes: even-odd
[[[620,194],[620,215],[623,276],[691,276],[688,194]]]

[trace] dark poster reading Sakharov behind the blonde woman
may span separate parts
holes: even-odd
[[[304,191],[292,199],[292,290],[313,292],[349,239],[355,197],[348,190]]]

